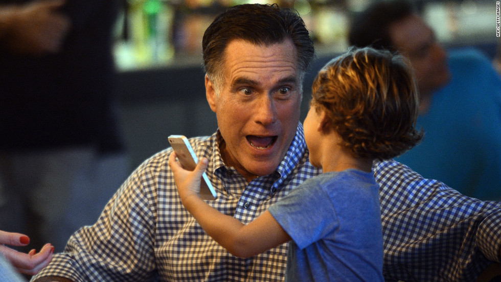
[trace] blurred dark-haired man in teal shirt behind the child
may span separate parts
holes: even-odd
[[[405,1],[370,6],[349,41],[398,51],[414,67],[425,137],[398,160],[464,195],[501,200],[501,78],[490,61],[473,50],[448,55]]]

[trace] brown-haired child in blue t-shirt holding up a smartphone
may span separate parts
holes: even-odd
[[[403,57],[370,48],[330,61],[315,78],[304,121],[308,179],[248,225],[198,197],[194,172],[169,165],[181,201],[201,227],[236,256],[289,245],[286,281],[382,281],[383,242],[374,159],[395,157],[422,138],[413,74]]]

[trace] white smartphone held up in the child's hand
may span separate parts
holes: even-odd
[[[170,135],[168,138],[172,149],[176,152],[177,159],[179,159],[181,166],[186,170],[193,171],[198,163],[198,158],[188,138],[184,135]],[[202,174],[202,179],[200,181],[200,198],[204,200],[215,200],[217,198],[216,191],[205,172]]]

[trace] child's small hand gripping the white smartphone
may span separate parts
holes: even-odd
[[[200,180],[203,172],[207,169],[209,160],[201,158],[194,171],[187,171],[181,167],[176,157],[176,153],[172,152],[169,156],[169,167],[174,173],[174,180],[176,181],[177,192],[179,193],[181,202],[185,203],[190,197],[199,198]]]

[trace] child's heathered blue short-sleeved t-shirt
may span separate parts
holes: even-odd
[[[292,238],[285,280],[384,281],[378,189],[372,173],[329,172],[272,205]]]

